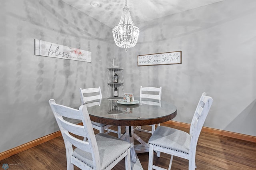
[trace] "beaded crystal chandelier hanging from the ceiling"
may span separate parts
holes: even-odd
[[[132,22],[126,0],[120,22],[113,28],[112,32],[116,45],[125,48],[125,51],[127,51],[127,48],[134,47],[138,41],[140,30]]]

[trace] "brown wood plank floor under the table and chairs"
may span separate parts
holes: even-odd
[[[161,125],[174,127],[165,123]],[[188,132],[186,128],[174,128]],[[150,138],[150,134],[145,132],[136,131],[136,134],[145,141]],[[143,169],[147,170],[148,153],[138,154],[138,158]],[[160,158],[154,156],[154,164],[164,168],[168,168],[169,161],[170,156],[167,154],[161,153]],[[8,164],[7,170],[65,170],[66,152],[62,136],[0,161],[1,168],[3,164]],[[197,170],[256,170],[256,143],[201,132],[196,149],[196,166]],[[74,166],[74,170],[78,169]],[[186,169],[188,160],[174,156],[172,170]],[[113,170],[124,170],[124,160]]]

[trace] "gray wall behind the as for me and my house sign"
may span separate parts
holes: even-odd
[[[138,44],[116,48],[126,93],[163,87],[190,123],[202,92],[214,99],[204,126],[256,136],[256,1],[225,0],[138,24]],[[182,51],[182,64],[137,66],[137,55]]]

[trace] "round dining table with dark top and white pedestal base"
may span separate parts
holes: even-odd
[[[177,108],[168,101],[141,99],[126,103],[121,97],[110,97],[84,104],[87,107],[91,121],[106,125],[125,126],[125,132],[120,139],[131,144],[132,169],[143,170],[136,153],[149,151],[149,145],[134,133],[134,128],[142,125],[164,123],[176,117]],[[140,144],[134,145],[134,138]]]

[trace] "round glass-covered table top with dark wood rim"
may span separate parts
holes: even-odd
[[[104,98],[85,104],[91,121],[116,126],[154,125],[169,121],[176,117],[177,108],[166,101],[148,101],[148,99],[134,98],[139,101],[134,105],[123,105],[118,100]]]

